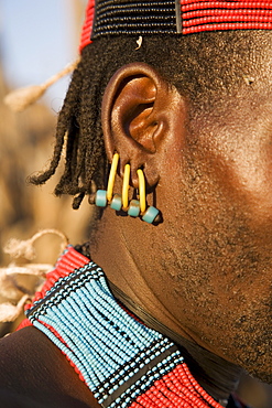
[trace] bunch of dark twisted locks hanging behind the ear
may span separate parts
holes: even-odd
[[[85,62],[86,58],[83,58],[75,69],[59,112],[50,167],[44,172],[30,178],[34,184],[45,183],[55,173],[65,149],[64,173],[54,192],[57,196],[73,195],[74,208],[78,208],[85,194],[90,192],[90,181],[95,181],[96,175],[100,173],[99,169],[96,172],[98,162],[101,164],[105,158],[101,130],[97,129],[100,109],[98,105],[91,103],[91,100],[100,99],[97,95],[99,94],[99,84],[97,84],[99,78],[94,75],[91,86],[86,84]]]

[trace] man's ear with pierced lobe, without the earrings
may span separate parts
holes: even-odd
[[[173,120],[177,92],[151,66],[132,63],[110,79],[102,99],[102,130],[109,161],[120,155],[120,174],[127,163],[138,187],[137,170],[143,169],[146,184],[160,179],[159,159]],[[162,159],[162,158],[161,158]]]

